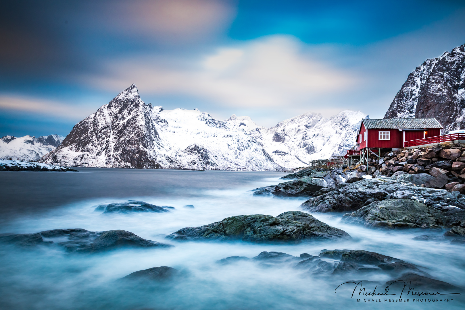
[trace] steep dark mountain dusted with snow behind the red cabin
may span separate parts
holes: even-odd
[[[465,44],[410,73],[384,118],[431,117],[444,132],[465,128]]]

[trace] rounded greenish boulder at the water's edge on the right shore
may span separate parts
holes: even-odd
[[[345,215],[345,223],[385,228],[439,228],[440,212],[411,199],[386,199]]]

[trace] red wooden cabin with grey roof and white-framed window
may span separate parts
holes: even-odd
[[[432,119],[362,119],[357,149],[402,148],[405,141],[439,136],[443,127]]]

